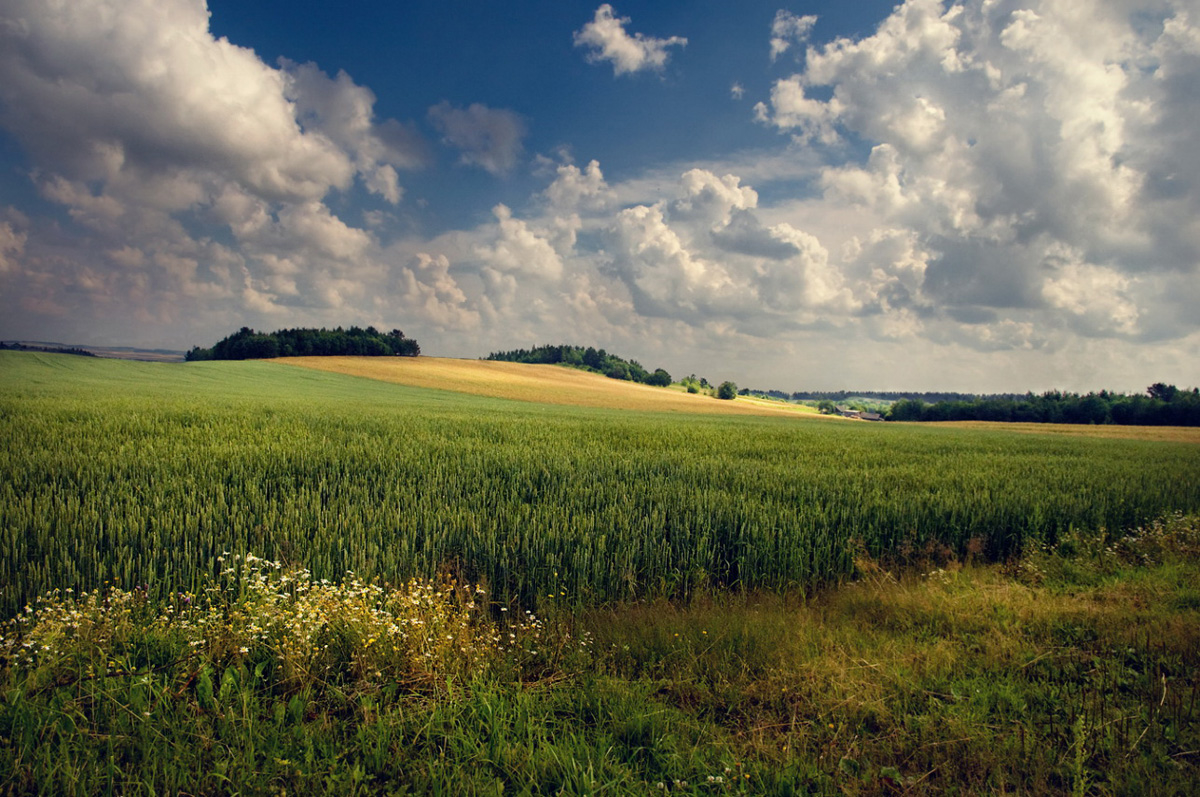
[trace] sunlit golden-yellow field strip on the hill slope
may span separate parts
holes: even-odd
[[[820,418],[798,405],[712,396],[610,379],[559,365],[528,365],[437,356],[293,356],[275,360],[318,371],[366,377],[413,388],[434,388],[493,398],[547,405],[701,414]]]

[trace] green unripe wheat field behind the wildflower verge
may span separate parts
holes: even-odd
[[[271,364],[0,359],[0,613],[199,589],[224,552],[512,607],[788,589],[1200,508],[1200,449],[547,408]]]

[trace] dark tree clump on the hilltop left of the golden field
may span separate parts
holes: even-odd
[[[416,356],[421,347],[404,332],[394,329],[380,332],[374,326],[361,329],[281,329],[256,332],[242,326],[218,341],[212,348],[194,347],[186,360],[260,360],[272,356]]]

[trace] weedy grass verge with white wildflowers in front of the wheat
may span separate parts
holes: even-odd
[[[0,647],[0,792],[1195,793],[1200,521],[1086,539],[509,623],[252,557],[52,595]]]

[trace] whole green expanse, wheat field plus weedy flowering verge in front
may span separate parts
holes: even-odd
[[[0,441],[0,793],[1198,775],[1193,443],[8,352]]]

